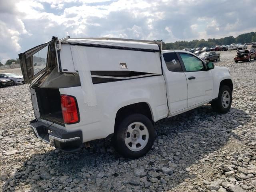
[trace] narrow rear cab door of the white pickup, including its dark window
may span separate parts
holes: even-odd
[[[175,52],[163,53],[163,73],[170,113],[188,106],[188,86],[186,76]]]

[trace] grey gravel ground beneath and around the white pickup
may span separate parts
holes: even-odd
[[[256,191],[256,61],[220,53],[215,65],[234,80],[230,112],[204,105],[160,120],[152,150],[138,160],[120,157],[108,139],[74,154],[43,142],[45,154],[29,128],[28,85],[1,88],[0,191]]]

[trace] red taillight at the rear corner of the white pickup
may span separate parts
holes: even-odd
[[[77,123],[79,115],[76,108],[76,99],[69,95],[60,95],[62,116],[65,124]]]

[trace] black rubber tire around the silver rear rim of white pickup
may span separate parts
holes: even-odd
[[[141,138],[145,136],[144,139],[148,141],[144,142],[145,144],[144,147],[143,145],[139,146],[138,151],[131,150],[130,148],[132,148],[132,146],[129,145],[129,144],[132,144],[132,142],[136,142],[136,141],[132,141],[128,144],[130,148],[128,148],[128,146],[125,143],[125,138],[131,138],[136,140],[135,137],[140,137],[140,134],[136,132],[135,125],[134,125],[134,128],[132,128],[132,134],[130,134],[130,132],[128,131],[129,129],[128,126],[135,122],[144,124],[146,126],[146,130],[148,130],[148,139],[146,138],[146,135],[141,136]],[[140,126],[139,129],[142,129],[143,131],[145,128],[144,126]],[[116,125],[115,134],[114,134],[114,147],[122,156],[130,159],[136,159],[141,156],[144,156],[151,149],[154,143],[154,139],[155,139],[155,134],[154,134],[154,126],[152,122],[142,114],[132,114],[124,118],[118,125]],[[137,144],[135,145],[135,147],[137,148]],[[139,150],[140,147],[143,147],[143,148]]]

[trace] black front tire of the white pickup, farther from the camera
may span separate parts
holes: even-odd
[[[222,97],[225,99],[225,94],[228,92],[226,96],[226,100],[222,101]],[[228,102],[229,100],[229,102]],[[212,104],[212,109],[218,113],[227,113],[230,110],[232,104],[232,91],[230,90],[229,86],[223,85],[220,87],[218,99]]]

